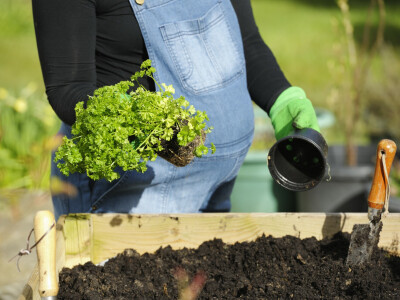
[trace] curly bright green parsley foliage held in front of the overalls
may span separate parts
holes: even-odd
[[[185,97],[174,98],[172,85],[159,85],[154,79],[151,61],[142,63],[131,80],[97,89],[86,103],[75,107],[76,122],[72,138],[63,138],[55,162],[63,174],[86,172],[88,177],[109,181],[119,178],[116,167],[122,170],[145,172],[146,162],[154,161],[163,150],[161,141],[169,141],[174,132],[179,145],[185,146],[202,132],[209,133],[207,114],[189,104]],[[138,79],[148,76],[159,91],[144,88]],[[128,90],[137,84],[136,90]],[[215,146],[211,144],[212,153]],[[202,141],[194,154],[201,157],[209,148]]]

